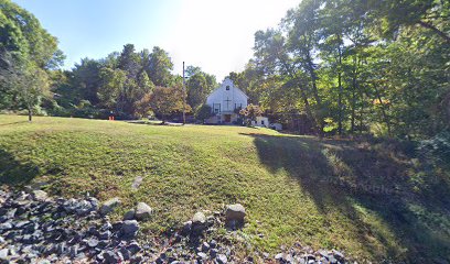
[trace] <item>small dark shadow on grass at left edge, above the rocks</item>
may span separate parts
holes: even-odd
[[[21,186],[40,175],[39,166],[18,161],[11,153],[0,148],[0,184]]]

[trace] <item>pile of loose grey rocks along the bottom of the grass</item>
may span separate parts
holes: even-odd
[[[215,232],[225,224],[243,223],[245,209],[228,206],[211,216],[197,212],[181,228],[153,238],[139,234],[138,221],[153,210],[139,202],[122,221],[107,216],[120,206],[113,198],[103,205],[94,197],[53,199],[42,190],[0,190],[0,263],[272,263],[236,258],[232,240]],[[233,233],[233,232],[232,232]],[[279,263],[344,263],[339,252],[291,249],[276,255]],[[303,261],[301,261],[303,260]],[[326,261],[326,262],[325,262]]]

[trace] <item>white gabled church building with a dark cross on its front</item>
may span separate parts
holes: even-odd
[[[247,107],[248,97],[226,78],[221,87],[215,89],[207,98],[206,103],[212,108],[214,116],[206,123],[233,123],[237,121],[237,109]]]

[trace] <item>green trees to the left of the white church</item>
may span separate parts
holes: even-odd
[[[169,54],[158,46],[138,52],[126,44],[105,58],[83,58],[63,70],[57,38],[10,0],[1,0],[0,8],[0,109],[25,109],[30,120],[32,113],[164,119],[200,108],[217,85],[215,76],[188,66],[183,89],[182,76],[172,74]]]

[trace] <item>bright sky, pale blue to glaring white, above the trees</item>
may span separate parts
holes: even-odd
[[[65,68],[83,57],[160,46],[222,80],[253,55],[254,33],[275,28],[300,0],[13,0],[60,41]]]

